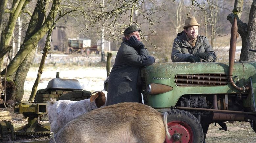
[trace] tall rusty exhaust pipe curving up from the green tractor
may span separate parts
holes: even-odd
[[[228,81],[229,83],[239,91],[245,92],[245,90],[250,89],[249,86],[246,87],[239,87],[237,86],[232,78],[233,66],[235,61],[235,54],[236,54],[236,44],[237,44],[237,18],[234,18],[234,22],[231,27],[231,35],[230,35],[230,47],[229,47],[229,69],[228,69]]]

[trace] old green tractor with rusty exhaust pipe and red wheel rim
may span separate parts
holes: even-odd
[[[168,112],[168,142],[204,142],[208,127],[246,121],[256,132],[256,61],[234,62],[237,22],[229,62],[155,63],[141,70],[145,104]]]

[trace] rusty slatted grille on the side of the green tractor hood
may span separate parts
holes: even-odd
[[[228,77],[225,73],[218,74],[177,74],[175,75],[177,86],[225,86]]]

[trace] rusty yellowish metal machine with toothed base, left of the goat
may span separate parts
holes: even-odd
[[[14,135],[48,135],[50,134],[50,125],[38,123],[38,118],[47,114],[47,103],[29,103],[22,101],[15,103],[14,113],[23,114],[28,117],[28,124],[14,129]]]

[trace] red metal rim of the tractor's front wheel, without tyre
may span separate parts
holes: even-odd
[[[164,143],[182,142],[192,143],[194,136],[192,128],[183,121],[171,121],[168,122],[168,129],[171,135],[171,139],[166,137]]]

